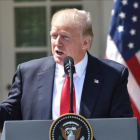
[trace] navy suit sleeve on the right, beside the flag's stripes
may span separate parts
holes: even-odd
[[[127,82],[128,82],[127,78],[128,78],[128,69],[124,67],[120,75],[118,84],[114,88],[111,101],[110,118],[133,116],[131,102],[127,90]]]

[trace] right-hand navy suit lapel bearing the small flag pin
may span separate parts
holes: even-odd
[[[102,76],[97,60],[88,54],[88,65],[81,97],[80,114],[90,118],[93,111],[99,89],[101,88]]]

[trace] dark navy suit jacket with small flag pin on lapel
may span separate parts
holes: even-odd
[[[0,127],[5,120],[52,119],[54,74],[52,56],[20,64],[9,98],[0,105]],[[126,67],[88,53],[80,114],[85,118],[132,117],[127,77]]]

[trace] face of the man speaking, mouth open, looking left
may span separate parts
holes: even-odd
[[[83,45],[80,29],[53,25],[50,34],[52,54],[56,63],[63,65],[66,56],[71,56],[74,64],[84,58],[86,48]]]

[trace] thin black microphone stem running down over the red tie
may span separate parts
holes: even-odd
[[[69,61],[70,64],[70,72],[69,72],[69,78],[70,78],[70,111],[69,113],[74,113],[73,111],[73,73],[74,73],[74,66]]]

